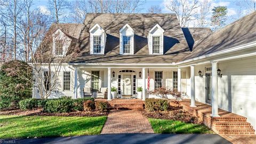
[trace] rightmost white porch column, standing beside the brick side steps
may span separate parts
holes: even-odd
[[[217,63],[218,61],[211,61],[212,63],[212,117],[219,117],[218,114],[218,76]]]

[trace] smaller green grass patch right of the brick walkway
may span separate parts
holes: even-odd
[[[214,133],[205,125],[191,124],[168,119],[149,118],[155,133]]]

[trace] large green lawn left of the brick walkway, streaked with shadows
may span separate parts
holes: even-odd
[[[0,138],[39,138],[100,134],[106,119],[106,116],[0,116]]]

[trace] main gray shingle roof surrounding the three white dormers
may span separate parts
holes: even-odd
[[[98,23],[107,34],[105,55],[90,55],[89,30],[95,23]],[[119,55],[119,30],[126,23],[135,31],[134,55]],[[148,52],[147,34],[157,23],[165,30],[164,55],[153,56]],[[79,40],[81,57],[75,58],[73,62],[171,63],[179,61],[189,53],[186,38],[175,14],[88,13]]]

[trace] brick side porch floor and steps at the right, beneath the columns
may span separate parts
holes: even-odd
[[[181,101],[181,106],[190,114],[196,115],[203,123],[218,134],[254,134],[255,130],[246,117],[218,109],[220,117],[212,117],[212,107],[205,103],[195,102],[196,107],[190,107],[190,100]]]

